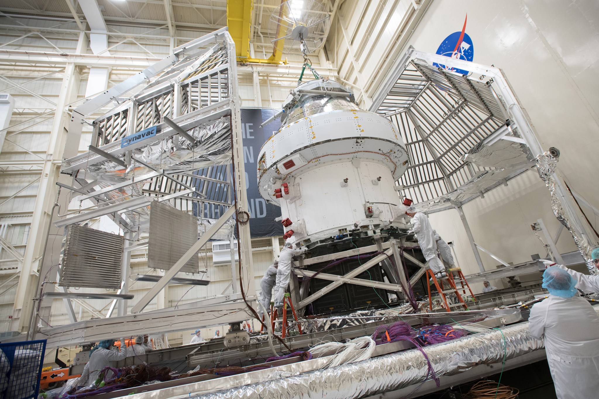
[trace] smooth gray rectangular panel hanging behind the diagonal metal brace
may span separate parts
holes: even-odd
[[[148,267],[168,270],[198,240],[198,218],[158,201],[150,205]],[[192,257],[181,272],[198,273],[198,257]]]

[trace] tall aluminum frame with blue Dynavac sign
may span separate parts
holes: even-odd
[[[123,100],[123,95],[142,85],[137,94]],[[89,124],[87,115],[113,101],[120,103],[92,123],[89,151],[72,156],[77,154],[82,125]],[[65,226],[107,215],[122,227],[126,240],[135,240],[144,231],[144,217],[154,200],[208,219],[199,240],[138,299],[132,313],[140,313],[187,260],[197,256],[214,234],[231,229],[237,215],[248,209],[235,46],[226,28],[174,48],[170,56],[73,109],[65,154],[71,157],[62,163],[57,204],[65,209],[75,199],[90,200],[92,206],[54,218],[52,229],[60,235]],[[238,223],[238,239],[243,269],[239,281],[234,275],[234,284],[244,283],[251,304],[256,298],[249,224]],[[128,291],[130,257],[126,255],[131,249],[124,249],[121,295]],[[43,260],[40,275],[52,269],[48,263]],[[42,291],[40,286],[38,293]],[[41,298],[43,313],[51,303]],[[29,336],[75,345],[102,334],[113,336],[115,324],[121,326],[117,335],[129,335],[142,328],[140,321],[144,330],[162,333],[243,321],[249,312],[238,300],[238,294],[220,296],[196,306],[159,309],[159,316],[126,315],[121,300],[119,316],[93,321],[93,337],[90,321],[38,328],[37,315],[32,315],[30,325],[35,328],[30,328]]]

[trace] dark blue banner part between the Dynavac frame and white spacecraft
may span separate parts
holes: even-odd
[[[274,221],[280,217],[281,208],[267,203],[258,191],[258,153],[262,145],[281,126],[280,120],[274,120],[267,126],[260,124],[274,115],[274,109],[242,108],[241,132],[243,134],[243,162],[246,168],[247,201],[250,212],[250,232],[252,237],[282,236],[283,225]]]

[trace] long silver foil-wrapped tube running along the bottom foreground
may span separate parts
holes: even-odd
[[[479,364],[498,363],[542,349],[543,341],[528,334],[528,323],[451,342],[427,346],[425,352],[437,376],[452,375]],[[293,366],[293,365],[290,365]],[[293,370],[292,367],[290,367]],[[267,371],[267,370],[263,370]],[[423,382],[428,364],[418,349],[308,373],[274,371],[259,382],[207,394],[202,399],[322,398],[346,399],[394,391]]]

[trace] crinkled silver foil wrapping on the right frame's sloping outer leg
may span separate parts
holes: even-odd
[[[572,234],[574,242],[580,251],[580,254],[585,260],[586,267],[589,269],[591,275],[595,274],[595,266],[592,262],[591,247],[588,241],[583,237],[577,229],[574,229],[571,218],[568,216],[567,209],[564,208],[558,193],[558,182],[555,181],[555,169],[559,161],[559,150],[555,147],[549,148],[543,154],[537,157],[537,169],[539,169],[539,176],[545,182],[549,193],[551,194],[551,209],[553,214],[559,223],[563,224],[568,232]]]

